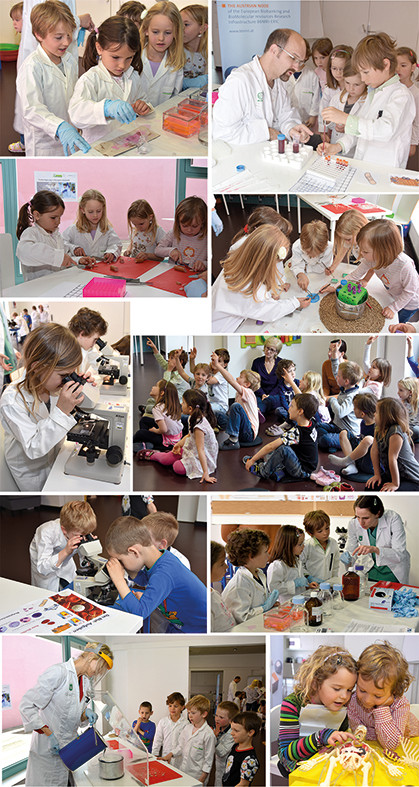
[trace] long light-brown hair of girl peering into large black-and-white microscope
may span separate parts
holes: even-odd
[[[23,391],[27,391],[34,398],[33,412],[48,377],[55,371],[74,371],[81,361],[80,345],[71,331],[63,325],[49,322],[31,331],[23,346],[25,377],[16,384],[25,405]]]

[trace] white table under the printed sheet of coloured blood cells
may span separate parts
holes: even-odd
[[[34,585],[25,585],[24,582],[15,582],[13,579],[4,579],[0,577],[0,613],[2,615],[18,609],[23,604],[29,604],[31,601],[49,598],[53,595],[52,590],[45,588],[37,588]],[[76,595],[85,599],[80,593]],[[88,599],[85,599],[88,601]],[[97,602],[95,601],[95,604]],[[89,636],[92,634],[135,634],[143,625],[143,619],[140,615],[132,615],[131,612],[120,612],[111,607],[103,607],[97,604],[98,607],[104,609],[105,612],[112,614],[112,620],[109,618],[101,622],[100,620],[92,620],[86,623],[83,628],[83,633],[86,632]]]

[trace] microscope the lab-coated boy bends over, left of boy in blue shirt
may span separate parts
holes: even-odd
[[[93,538],[90,533],[83,536],[77,549],[80,568],[75,576],[73,587],[76,593],[80,593],[90,601],[110,607],[115,603],[118,591],[106,568],[106,558],[99,554],[101,551],[102,544],[98,538]]]

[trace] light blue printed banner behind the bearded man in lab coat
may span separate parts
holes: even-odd
[[[227,69],[261,55],[273,30],[288,27],[300,32],[300,0],[217,0],[217,17],[224,77]]]

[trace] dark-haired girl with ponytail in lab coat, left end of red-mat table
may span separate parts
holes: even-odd
[[[22,205],[17,222],[16,256],[25,281],[74,265],[58,231],[64,202],[53,191],[37,191]]]

